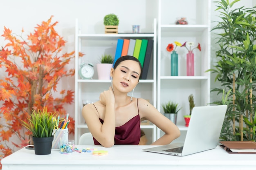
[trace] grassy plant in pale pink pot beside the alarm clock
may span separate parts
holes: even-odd
[[[100,62],[97,64],[98,79],[110,79],[114,57],[110,54],[103,54],[101,55]]]

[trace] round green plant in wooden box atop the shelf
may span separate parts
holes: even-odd
[[[118,33],[119,19],[118,19],[117,15],[115,15],[114,13],[105,15],[103,24],[105,25],[105,33],[106,34],[117,34]]]

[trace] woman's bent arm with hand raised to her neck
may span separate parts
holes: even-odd
[[[104,123],[99,121],[99,113],[92,104],[87,104],[82,109],[83,117],[92,136],[104,147],[111,147],[115,141],[115,97],[112,88],[100,94],[99,109],[105,112]]]

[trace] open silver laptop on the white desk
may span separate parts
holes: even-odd
[[[143,149],[167,155],[185,156],[216,148],[227,105],[194,107],[183,143]]]

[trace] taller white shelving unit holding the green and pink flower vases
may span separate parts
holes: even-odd
[[[157,27],[157,109],[163,113],[161,104],[168,101],[179,103],[182,109],[177,115],[177,126],[183,141],[187,127],[183,116],[189,114],[190,94],[194,95],[195,106],[206,106],[210,103],[210,68],[211,47],[211,0],[158,0]],[[176,25],[178,17],[186,17],[187,25]],[[202,51],[195,49],[195,76],[186,76],[186,48],[177,47],[179,54],[179,74],[171,76],[171,53],[166,51],[168,44],[178,41],[201,44]],[[157,139],[164,133],[157,128]]]

